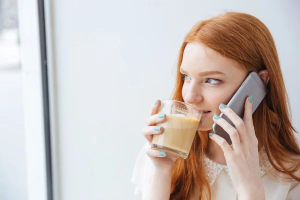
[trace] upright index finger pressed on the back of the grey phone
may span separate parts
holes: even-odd
[[[247,131],[247,135],[251,141],[257,139],[255,135],[255,130],[253,126],[253,119],[252,119],[252,103],[253,96],[248,96],[245,101],[245,111],[244,111],[244,124]]]

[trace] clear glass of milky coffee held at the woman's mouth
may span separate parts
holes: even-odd
[[[181,101],[161,100],[158,113],[165,113],[166,121],[155,124],[161,126],[162,132],[153,135],[151,148],[187,158],[202,111]]]

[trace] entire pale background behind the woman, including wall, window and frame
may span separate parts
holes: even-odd
[[[181,42],[230,10],[272,33],[299,130],[298,0],[0,0],[0,199],[137,199],[141,129]]]

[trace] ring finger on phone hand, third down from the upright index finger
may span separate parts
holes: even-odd
[[[216,124],[221,126],[229,134],[234,148],[240,148],[241,144],[237,130],[232,125],[230,125],[225,119],[220,118],[217,114],[214,114],[212,118]]]

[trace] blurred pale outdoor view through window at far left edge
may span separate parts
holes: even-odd
[[[27,199],[17,0],[0,0],[0,199]]]

